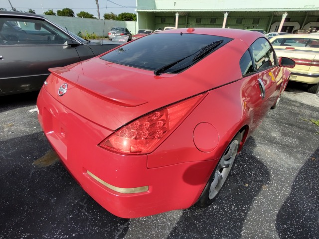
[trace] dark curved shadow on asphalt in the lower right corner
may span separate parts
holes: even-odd
[[[297,174],[277,214],[276,229],[281,239],[319,239],[319,148]]]

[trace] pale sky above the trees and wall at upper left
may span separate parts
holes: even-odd
[[[57,10],[71,8],[74,15],[80,11],[87,11],[97,16],[97,6],[95,0],[10,0],[13,7],[19,11],[28,11],[29,8],[36,14],[43,14],[43,10]],[[42,9],[43,6],[43,9]],[[0,0],[0,8],[11,10],[9,0]],[[104,13],[113,12],[119,14],[122,12],[136,13],[136,0],[99,0],[100,16],[103,18]]]

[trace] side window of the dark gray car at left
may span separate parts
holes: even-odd
[[[66,44],[68,35],[40,19],[0,17],[2,45]]]

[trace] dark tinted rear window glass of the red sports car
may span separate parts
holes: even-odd
[[[200,60],[202,57],[198,57],[198,52],[205,46],[221,42],[209,51],[211,53],[231,40],[221,36],[187,33],[150,34],[105,54],[101,59],[153,71],[180,60],[165,70],[167,73],[177,73]]]

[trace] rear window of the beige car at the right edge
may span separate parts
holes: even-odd
[[[319,48],[319,39],[295,37],[295,38],[277,38],[272,42],[273,46],[294,46],[294,47],[315,47]]]

